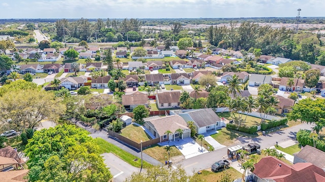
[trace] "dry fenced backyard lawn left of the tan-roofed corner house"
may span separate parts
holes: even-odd
[[[146,134],[142,127],[135,124],[130,124],[120,131],[122,136],[140,143],[141,141],[149,141],[151,138]]]

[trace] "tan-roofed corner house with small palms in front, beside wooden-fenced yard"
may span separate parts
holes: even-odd
[[[187,127],[186,121],[178,115],[149,119],[145,121],[145,126],[155,138],[160,139],[160,142],[168,140],[175,141],[190,137],[190,129]],[[180,135],[176,131],[177,129],[182,129],[183,134]],[[172,134],[167,136],[167,130],[172,131]]]

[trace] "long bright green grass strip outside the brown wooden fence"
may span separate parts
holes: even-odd
[[[96,138],[95,143],[100,146],[99,152],[101,154],[111,152],[111,153],[115,154],[116,156],[118,156],[119,158],[121,158],[122,160],[124,160],[125,162],[127,162],[128,164],[131,164],[135,167],[141,167],[141,159],[140,158],[122,150],[121,148],[119,148],[113,144],[106,142],[104,139]],[[137,161],[135,161],[135,159],[137,159]],[[148,162],[143,161],[144,168],[151,167],[151,166],[152,165],[149,164]]]

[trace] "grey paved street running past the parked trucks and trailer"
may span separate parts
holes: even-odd
[[[274,146],[276,142],[284,142],[288,140],[292,140],[295,138],[296,133],[299,129],[310,129],[312,125],[310,124],[300,124],[297,126],[290,127],[288,129],[282,129],[281,131],[276,131],[266,136],[258,136],[256,138],[245,138],[240,137],[238,138],[238,143],[235,145],[247,145],[249,143],[258,143],[261,145],[261,149],[266,149],[271,146]],[[184,169],[186,170],[187,174],[193,174],[194,171],[203,170],[211,167],[211,164],[214,161],[221,160],[223,157],[227,157],[227,147],[215,150],[213,152],[205,153],[196,157],[192,157],[189,159],[185,159],[179,162]],[[175,164],[177,165],[177,164]]]

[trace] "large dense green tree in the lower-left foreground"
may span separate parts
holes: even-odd
[[[74,125],[36,131],[24,150],[28,181],[110,181],[99,146]]]

